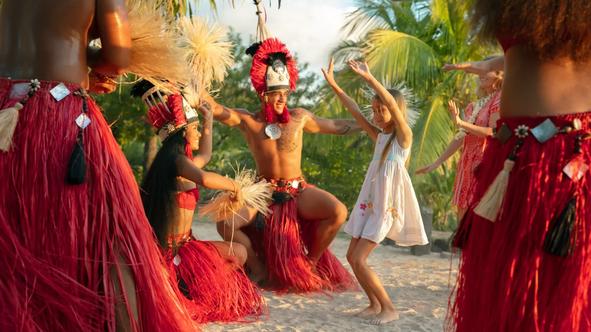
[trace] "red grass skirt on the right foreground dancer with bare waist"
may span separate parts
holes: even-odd
[[[557,134],[540,144],[531,134],[519,149],[509,177],[504,205],[495,223],[473,213],[462,223],[462,258],[456,298],[450,301],[448,330],[463,331],[590,331],[591,310],[591,173],[574,182],[563,172],[573,159],[591,164],[589,141],[574,154],[575,138],[590,131],[591,112],[575,115],[503,118],[511,132],[519,125],[530,129],[550,118],[558,128],[578,118],[582,131]],[[502,145],[488,139],[476,175],[479,183],[472,208],[503,168],[519,138]],[[571,256],[560,257],[543,248],[573,193],[576,207],[576,247]],[[467,232],[469,230],[469,232]],[[465,236],[469,235],[469,236]]]

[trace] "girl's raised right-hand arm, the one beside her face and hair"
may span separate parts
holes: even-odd
[[[413,131],[410,129],[410,126],[404,120],[404,116],[398,108],[398,103],[388,90],[382,84],[375,79],[375,77],[369,72],[369,66],[366,62],[361,63],[355,60],[349,60],[349,67],[353,70],[354,73],[361,76],[369,85],[374,88],[375,92],[378,93],[379,98],[384,102],[384,105],[392,111],[392,115],[394,118],[394,123],[396,123],[397,129],[397,136],[398,144],[400,147],[405,149],[410,147],[411,141],[413,139]],[[401,135],[402,134],[402,135]]]

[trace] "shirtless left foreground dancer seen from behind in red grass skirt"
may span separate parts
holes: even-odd
[[[87,94],[130,59],[125,0],[2,1],[1,331],[194,330]]]

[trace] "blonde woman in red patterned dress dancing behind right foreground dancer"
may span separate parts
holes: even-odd
[[[486,59],[488,58],[492,57]],[[456,183],[453,188],[452,200],[452,204],[457,206],[459,219],[462,219],[467,207],[472,203],[473,188],[476,185],[472,170],[482,160],[482,154],[486,147],[485,138],[492,135],[492,127],[499,119],[502,77],[502,71],[490,71],[486,75],[479,76],[480,84],[476,94],[480,99],[466,107],[466,120],[460,119],[456,103],[452,100],[449,101],[452,120],[459,127],[459,131],[433,164],[415,171],[415,174],[427,174],[436,170],[462,148],[462,155],[457,162]]]

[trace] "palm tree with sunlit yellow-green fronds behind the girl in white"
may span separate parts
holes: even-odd
[[[356,0],[355,6],[358,9],[348,15],[342,27],[345,38],[332,54],[336,63],[349,58],[367,61],[379,80],[405,81],[423,102],[421,117],[413,129],[409,172],[414,174],[417,168],[435,161],[456,132],[447,100],[458,100],[465,107],[473,98],[470,91],[475,88],[474,76],[461,71],[444,73],[440,67],[444,63],[482,60],[498,50],[471,43],[469,5],[464,0]],[[347,67],[337,73],[337,80],[360,105],[368,103],[361,93],[364,82]],[[323,88],[322,100],[317,113],[348,114],[330,88]],[[449,161],[447,168],[457,157]],[[438,171],[440,177],[411,175],[415,189],[435,185],[445,172],[441,168]]]

